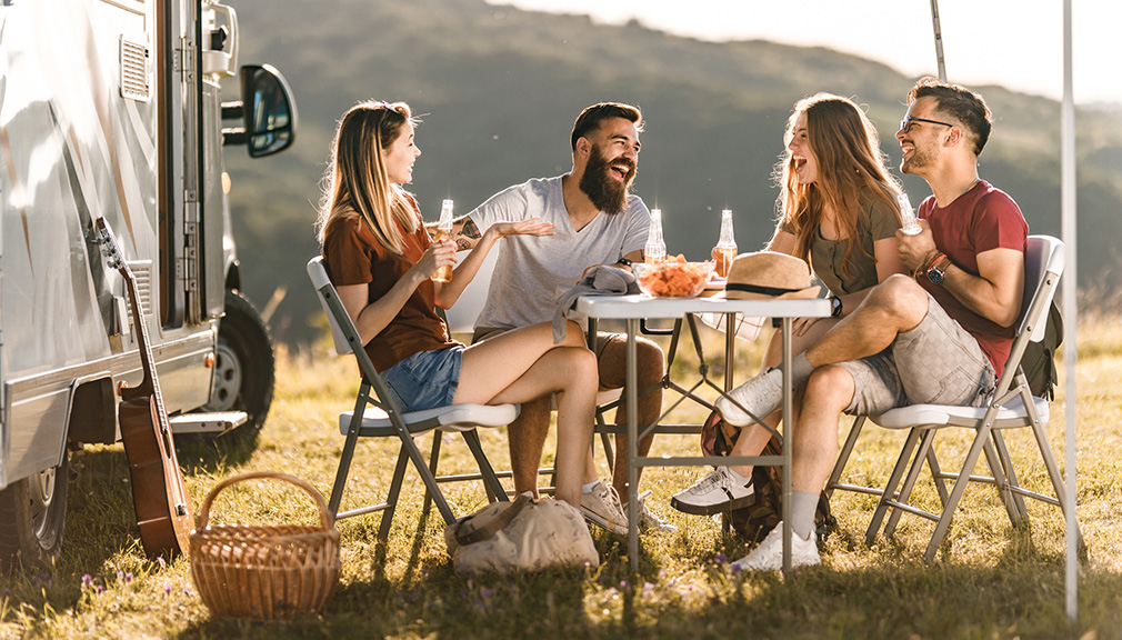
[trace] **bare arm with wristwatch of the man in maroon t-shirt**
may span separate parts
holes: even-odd
[[[912,272],[925,268],[939,254],[927,220],[920,220],[920,227],[922,232],[916,236],[896,231],[900,262]],[[941,286],[971,311],[1002,327],[1011,327],[1021,314],[1024,254],[1017,249],[996,248],[978,254],[977,262],[978,275],[972,275],[951,263],[942,276]]]

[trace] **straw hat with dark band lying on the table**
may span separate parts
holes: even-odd
[[[778,252],[741,254],[733,260],[725,284],[730,300],[817,298],[819,287],[810,283],[810,265]]]

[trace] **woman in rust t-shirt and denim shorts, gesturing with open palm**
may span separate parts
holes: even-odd
[[[555,394],[557,496],[579,508],[598,386],[581,329],[571,324],[560,345],[550,324],[534,324],[465,347],[434,309],[457,301],[497,240],[552,235],[553,226],[536,218],[493,225],[449,282],[433,282],[438,268],[456,264],[456,245],[429,238],[416,200],[401,186],[421,155],[416,124],[404,102],[375,101],[339,124],[316,223],[339,299],[405,411]]]

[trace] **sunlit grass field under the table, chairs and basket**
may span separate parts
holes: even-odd
[[[0,576],[0,638],[1122,638],[1122,323],[1086,323],[1079,335],[1078,516],[1088,552],[1075,624],[1065,614],[1064,521],[1054,506],[1031,503],[1030,524],[1013,529],[994,490],[972,485],[948,541],[925,563],[931,523],[905,516],[892,540],[868,547],[864,531],[874,500],[837,493],[838,528],[822,545],[824,564],[784,579],[730,572],[728,563],[749,547],[714,520],[670,509],[670,496],[701,473],[697,468],[647,470],[649,503],[679,531],[641,537],[637,574],[626,541],[594,529],[597,568],[479,579],[453,573],[439,516],[419,525],[421,483],[410,472],[386,548],[376,545],[379,514],[338,524],[341,579],[323,615],[219,619],[200,600],[185,558],[166,565],[145,558],[128,464],[117,445],[74,454],[66,545],[56,566]],[[707,345],[712,339],[707,331]],[[758,347],[742,349],[738,380],[757,357]],[[196,509],[218,482],[249,470],[284,472],[330,491],[342,445],[335,421],[352,402],[353,365],[325,350],[280,354],[278,363],[276,397],[256,442],[181,440]],[[696,359],[683,355],[675,376],[691,369]],[[1063,390],[1061,381],[1049,426],[1061,466]],[[701,409],[679,411],[683,419],[705,417]],[[505,466],[504,431],[482,438],[491,461]],[[469,470],[467,448],[458,438],[445,442],[442,468]],[[1029,435],[1011,435],[1009,442],[1022,484],[1047,491]],[[426,451],[429,440],[420,444]],[[867,429],[847,476],[883,484],[901,444],[901,433]],[[960,460],[967,445],[966,435],[941,436],[944,466]],[[696,447],[696,438],[666,437],[655,452]],[[361,442],[346,502],[378,501],[395,455],[389,441]],[[921,482],[917,491],[937,503],[930,486]],[[478,484],[449,485],[447,494],[458,512],[485,503]],[[255,481],[222,492],[211,521],[314,524],[318,511],[298,490]]]

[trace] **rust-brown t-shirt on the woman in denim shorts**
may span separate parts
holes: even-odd
[[[378,243],[357,212],[338,216],[328,223],[323,235],[323,258],[335,286],[366,284],[368,300],[374,302],[421,259],[432,240],[424,230],[416,202],[410,198],[410,203],[417,217],[417,230],[406,232],[394,218],[404,239],[399,256]],[[434,296],[432,281],[421,283],[389,324],[366,344],[366,353],[379,373],[413,354],[459,344],[449,338],[448,328],[436,316]]]

